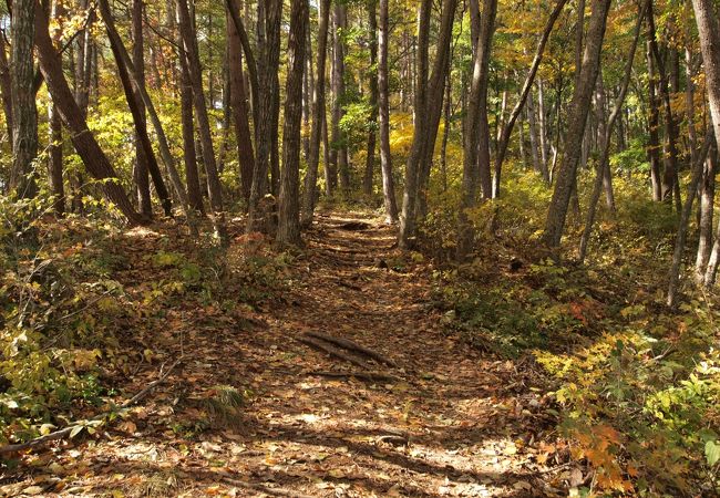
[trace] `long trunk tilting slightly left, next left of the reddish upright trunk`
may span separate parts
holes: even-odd
[[[205,105],[203,71],[197,48],[197,37],[193,29],[194,27],[187,7],[187,0],[177,0],[177,18],[178,29],[181,37],[183,38],[183,46],[187,54],[187,69],[191,76],[191,85],[193,87],[193,104],[195,108],[195,117],[197,120],[197,128],[200,136],[210,210],[213,211],[212,220],[217,237],[223,243],[226,243],[228,240],[227,228],[225,226],[225,215],[223,212],[223,190],[217,173],[217,163],[215,162],[209,117]]]

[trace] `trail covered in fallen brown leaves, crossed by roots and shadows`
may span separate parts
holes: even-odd
[[[368,215],[320,215],[281,301],[241,320],[212,308],[168,314],[174,340],[164,365],[182,360],[165,382],[95,437],[39,452],[2,492],[524,497],[566,489],[577,476],[553,440],[533,365],[484,354],[448,331],[433,305],[432,267],[398,263],[393,241],[394,231]],[[128,242],[127,250],[143,248]],[[315,332],[362,344],[392,366],[357,351],[361,365],[352,365],[302,342]],[[119,388],[141,391],[161,364],[142,365]],[[218,384],[247,393],[243,406],[226,413],[197,403]]]

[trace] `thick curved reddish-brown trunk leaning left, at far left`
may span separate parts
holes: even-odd
[[[83,160],[85,168],[94,178],[104,180],[103,189],[105,195],[117,206],[131,225],[144,222],[145,219],[135,211],[123,190],[107,156],[97,145],[92,132],[88,129],[83,113],[78,106],[65,80],[62,61],[52,45],[48,32],[48,18],[39,0],[35,0],[34,29],[34,44],[40,61],[40,71],[62,122],[71,133],[73,146]]]

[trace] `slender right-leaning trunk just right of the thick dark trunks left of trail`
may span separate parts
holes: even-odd
[[[330,0],[319,2],[319,31],[317,54],[317,79],[312,92],[312,127],[310,129],[310,156],[308,158],[308,170],[305,176],[305,190],[302,197],[302,225],[312,225],[315,204],[318,196],[318,166],[320,163],[320,141],[322,139],[322,126],[326,121],[325,114],[325,80],[328,52],[328,24],[330,22]],[[327,142],[326,142],[327,155]],[[326,170],[328,163],[325,163]]]

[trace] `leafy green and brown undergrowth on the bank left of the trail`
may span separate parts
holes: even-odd
[[[165,338],[171,310],[243,315],[287,286],[290,259],[263,243],[228,255],[175,225],[125,230],[0,203],[2,443],[106,412],[123,380],[181,354],[182,344]]]

